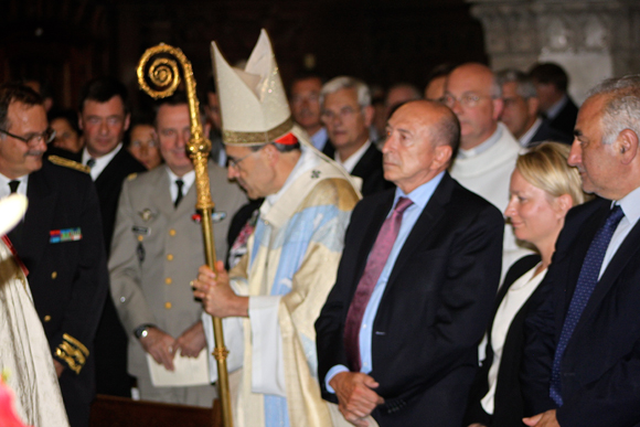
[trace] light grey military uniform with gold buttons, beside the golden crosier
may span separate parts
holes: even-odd
[[[209,174],[215,203],[215,248],[217,258],[224,259],[231,220],[247,199],[235,183],[227,181],[223,168],[210,162]],[[129,373],[138,377],[141,397],[210,406],[212,386],[157,388],[146,396],[149,367],[146,352],[134,335],[136,328],[150,323],[178,338],[200,320],[202,306],[193,299],[189,285],[205,261],[202,228],[194,214],[195,183],[174,207],[167,166],[125,181],[109,273],[111,296],[129,334]],[[195,388],[196,393],[183,388]]]

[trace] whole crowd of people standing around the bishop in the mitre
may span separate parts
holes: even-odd
[[[242,70],[212,55],[213,269],[184,93],[131,113],[96,78],[61,110],[0,86],[23,421],[88,426],[96,393],[211,406],[214,316],[236,426],[640,426],[640,76],[578,108],[553,63],[381,95],[285,86],[264,31]]]

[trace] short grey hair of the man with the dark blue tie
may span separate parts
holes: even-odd
[[[608,78],[587,94],[605,96],[602,143],[614,143],[618,135],[630,129],[640,138],[640,74]]]

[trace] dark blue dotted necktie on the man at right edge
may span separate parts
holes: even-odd
[[[600,268],[602,266],[602,260],[605,259],[605,254],[607,253],[607,247],[609,247],[609,242],[614,236],[614,232],[618,227],[618,223],[625,213],[620,205],[614,206],[605,225],[598,229],[596,236],[589,245],[585,260],[583,261],[583,268],[580,268],[580,275],[578,276],[578,282],[576,285],[576,290],[569,303],[569,310],[567,311],[567,317],[565,318],[565,323],[563,324],[563,330],[561,332],[561,338],[555,349],[555,355],[553,357],[553,367],[551,373],[551,387],[548,391],[550,397],[558,405],[563,405],[563,398],[561,395],[561,363],[563,360],[564,352],[567,344],[574,333],[574,329],[580,320],[580,316],[589,301],[589,298],[596,288],[598,282],[598,276],[600,275]]]

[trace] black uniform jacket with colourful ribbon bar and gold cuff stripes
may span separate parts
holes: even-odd
[[[88,425],[93,341],[108,290],[98,198],[88,174],[47,160],[29,174],[26,196],[23,224],[9,237],[29,269],[51,351],[65,365],[60,386],[70,423]]]

